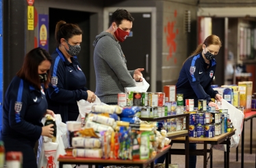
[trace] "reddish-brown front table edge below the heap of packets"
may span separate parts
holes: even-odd
[[[151,163],[153,162],[156,158],[159,158],[163,154],[166,154],[168,150],[170,149],[170,145],[164,147],[162,149],[162,152],[158,152],[157,155],[153,158],[145,159],[145,160],[140,160],[140,159],[133,159],[133,160],[120,160],[120,159],[114,159],[114,158],[109,158],[109,159],[104,159],[104,158],[75,158],[73,156],[62,156],[60,155],[57,160],[60,163],[91,163],[94,165],[101,165],[101,164],[123,164],[123,165],[144,165],[146,163]]]

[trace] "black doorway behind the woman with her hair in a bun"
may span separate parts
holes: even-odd
[[[55,40],[55,25],[58,21],[64,20],[66,23],[79,25],[82,34],[81,51],[77,58],[81,69],[86,75],[86,87],[90,88],[90,12],[81,12],[76,10],[63,10],[49,8],[49,53],[53,53],[57,47]]]

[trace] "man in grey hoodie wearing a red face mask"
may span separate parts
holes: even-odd
[[[127,10],[116,10],[110,19],[110,28],[96,36],[93,42],[96,92],[101,102],[117,104],[118,93],[124,87],[135,87],[133,81],[141,81],[141,71],[127,70],[125,55],[119,42],[123,42],[132,27],[134,18]]]

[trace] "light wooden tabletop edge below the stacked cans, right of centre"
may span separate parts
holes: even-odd
[[[209,141],[213,143],[221,143],[222,141],[225,141],[225,139],[228,139],[232,135],[235,134],[235,129],[231,132],[227,132],[225,134],[221,134],[215,137],[189,137],[189,141],[192,143],[203,143],[204,141]],[[175,139],[172,139],[173,141],[185,141],[185,137],[177,137]]]

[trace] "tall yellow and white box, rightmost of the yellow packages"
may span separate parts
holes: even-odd
[[[253,82],[238,82],[238,90],[240,91],[240,106],[244,107],[244,112],[251,111],[251,97],[253,94]]]

